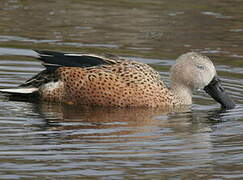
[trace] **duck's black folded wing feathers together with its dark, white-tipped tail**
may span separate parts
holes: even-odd
[[[17,88],[0,89],[0,92],[10,94],[32,94],[39,90],[39,87],[48,82],[55,82],[58,80],[56,76],[56,70],[59,67],[81,67],[89,68],[94,66],[112,65],[118,62],[118,57],[109,56],[97,56],[94,54],[74,54],[74,53],[62,53],[55,51],[39,51],[37,59],[41,60],[42,65],[46,68],[34,77],[27,80]]]

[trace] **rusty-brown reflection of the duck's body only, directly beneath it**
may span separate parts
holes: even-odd
[[[157,136],[158,133],[152,132],[161,126],[168,127],[169,114],[190,112],[189,106],[176,109],[101,108],[49,103],[41,103],[35,109],[46,120],[48,130],[78,130],[69,137],[88,136],[96,139],[112,139],[125,135],[129,135],[129,138]]]

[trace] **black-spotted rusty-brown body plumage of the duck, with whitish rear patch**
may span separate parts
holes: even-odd
[[[47,101],[70,104],[159,106],[160,92],[166,91],[166,86],[156,71],[132,60],[112,62],[86,68],[60,67],[56,71],[58,87],[52,88],[52,82],[44,85],[41,96]]]

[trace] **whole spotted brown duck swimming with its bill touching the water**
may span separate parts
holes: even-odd
[[[45,70],[17,88],[1,92],[48,102],[88,106],[160,107],[192,104],[204,89],[223,108],[235,103],[224,91],[212,61],[199,53],[181,55],[171,68],[170,87],[147,64],[117,56],[36,51]]]

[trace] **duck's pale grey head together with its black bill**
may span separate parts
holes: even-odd
[[[232,109],[235,103],[225,93],[212,61],[199,53],[181,55],[171,68],[172,86],[186,87],[191,91],[204,89],[223,108]]]

